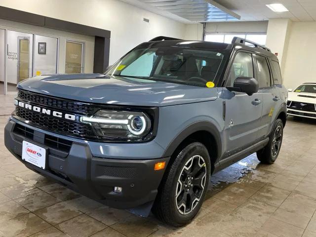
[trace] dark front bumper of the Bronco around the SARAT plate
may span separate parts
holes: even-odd
[[[32,135],[32,127],[26,126],[24,134],[17,133],[14,129],[16,124],[20,127],[26,125],[10,119],[4,129],[4,143],[6,148],[29,169],[52,178],[84,196],[119,209],[133,208],[155,200],[164,169],[154,171],[154,166],[156,162],[167,163],[169,158],[99,158],[92,155],[90,147],[84,141],[73,141],[69,152],[65,152],[56,146],[50,146],[45,132],[33,129]],[[55,136],[58,138],[58,134]],[[21,159],[23,140],[48,150],[45,170]],[[103,143],[100,143],[100,146],[101,144]],[[122,192],[113,192],[115,186],[122,187]]]

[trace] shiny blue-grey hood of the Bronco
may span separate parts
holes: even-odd
[[[102,74],[39,76],[17,88],[89,103],[153,107],[215,100],[218,94],[217,88]]]

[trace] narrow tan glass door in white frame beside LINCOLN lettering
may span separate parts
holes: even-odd
[[[30,77],[30,38],[18,37],[17,83]]]

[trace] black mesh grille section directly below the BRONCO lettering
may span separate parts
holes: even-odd
[[[20,107],[15,108],[15,115],[51,131],[84,137],[94,136],[89,124],[54,118]]]

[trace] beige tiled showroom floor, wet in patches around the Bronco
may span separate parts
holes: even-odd
[[[0,237],[316,237],[316,120],[289,118],[275,164],[252,155],[216,173],[195,220],[170,228],[28,170],[2,139],[13,96],[0,101]]]

